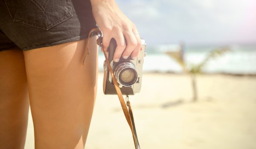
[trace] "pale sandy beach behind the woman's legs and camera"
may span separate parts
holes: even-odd
[[[117,96],[98,93],[85,149],[133,149]],[[256,77],[198,75],[198,101],[186,74],[143,74],[130,96],[141,149],[256,149]],[[25,149],[34,149],[32,117]]]

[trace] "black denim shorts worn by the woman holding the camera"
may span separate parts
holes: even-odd
[[[81,40],[94,27],[90,0],[0,0],[0,51]]]

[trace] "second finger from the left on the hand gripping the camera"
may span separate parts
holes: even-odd
[[[125,38],[123,34],[118,34],[114,37],[116,40],[116,51],[114,53],[114,62],[119,62],[122,52],[125,50]]]

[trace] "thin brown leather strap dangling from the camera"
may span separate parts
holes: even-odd
[[[91,29],[90,32],[89,32],[89,35],[88,35],[88,38],[86,40],[86,56],[84,57],[84,60],[83,60],[83,65],[84,65],[84,62],[86,60],[86,57],[89,55],[90,51],[88,49],[88,43],[89,43],[89,37],[91,37],[91,35],[93,34],[93,32],[96,32],[97,34],[100,34],[100,37],[99,39],[102,37],[102,32],[98,29],[98,28],[94,28],[94,29]],[[108,57],[107,57],[107,54],[105,52],[105,49],[104,47],[102,46],[102,42],[100,42],[99,40],[97,41],[97,44],[102,48],[102,51],[104,53],[104,56],[105,56],[105,60],[107,62],[107,66],[108,66],[108,69],[111,73],[111,76],[112,76],[112,79],[113,79],[113,83],[114,83],[114,86],[115,86],[115,89],[116,89],[116,93],[117,93],[117,96],[119,98],[119,101],[121,103],[121,106],[122,106],[122,110],[125,114],[125,118],[128,122],[128,125],[130,126],[131,128],[131,133],[132,133],[132,136],[133,136],[133,140],[134,140],[134,145],[135,145],[135,149],[140,149],[140,145],[139,145],[139,141],[138,141],[138,138],[137,138],[137,133],[136,133],[136,129],[135,129],[135,123],[134,123],[134,117],[133,117],[133,113],[132,113],[132,109],[131,109],[131,104],[130,104],[130,101],[128,100],[127,101],[127,106],[128,106],[128,109],[127,109],[127,106],[125,104],[125,100],[122,96],[122,92],[119,88],[119,85],[117,83],[117,80],[116,80],[116,77],[114,75],[114,72],[113,72],[113,69],[111,68],[111,65],[109,63],[109,60],[108,60]]]

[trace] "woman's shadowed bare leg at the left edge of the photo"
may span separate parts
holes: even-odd
[[[0,52],[0,149],[23,149],[29,94],[22,50]]]

